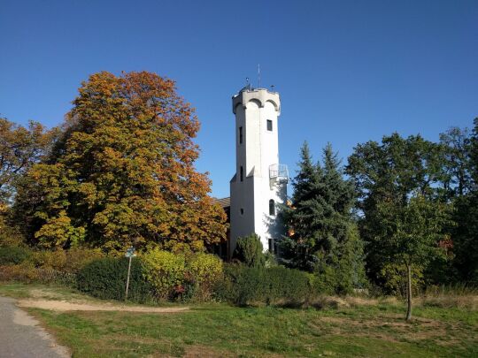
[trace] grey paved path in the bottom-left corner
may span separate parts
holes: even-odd
[[[70,354],[34,317],[16,307],[15,300],[0,297],[0,357],[65,358]]]

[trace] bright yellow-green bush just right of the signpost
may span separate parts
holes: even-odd
[[[152,249],[142,256],[144,277],[154,287],[159,300],[167,300],[184,292],[186,260],[183,255]]]

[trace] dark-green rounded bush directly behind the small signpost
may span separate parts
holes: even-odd
[[[127,265],[126,257],[96,259],[78,272],[78,289],[102,299],[124,300]],[[134,258],[131,264],[128,300],[140,303],[151,300],[153,287],[144,279],[144,276],[142,260]]]

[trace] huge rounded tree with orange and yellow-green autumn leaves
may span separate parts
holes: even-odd
[[[46,248],[200,251],[225,239],[211,181],[194,167],[199,122],[173,80],[93,74],[63,129],[19,190],[30,240]]]

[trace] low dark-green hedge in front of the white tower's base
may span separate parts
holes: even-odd
[[[312,295],[313,276],[304,271],[227,265],[225,278],[216,286],[217,298],[236,305],[298,306]]]

